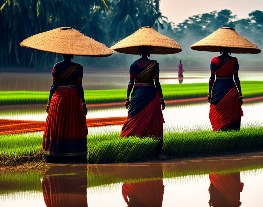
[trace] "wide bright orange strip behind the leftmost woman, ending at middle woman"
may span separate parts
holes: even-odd
[[[87,126],[104,126],[113,124],[124,124],[127,121],[125,117],[107,117],[107,118],[89,118]],[[23,121],[0,119],[0,135],[15,134],[35,131],[44,131],[45,121]]]

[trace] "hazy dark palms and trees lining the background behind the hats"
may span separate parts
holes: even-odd
[[[189,17],[180,24],[169,22],[159,9],[159,0],[4,0],[0,4],[2,68],[30,67],[48,69],[60,59],[57,54],[21,48],[23,39],[50,29],[69,26],[110,47],[142,26],[152,26],[176,40],[183,51],[176,56],[158,56],[164,66],[183,59],[188,66],[200,66],[206,55],[189,46],[224,26],[262,47],[263,12],[253,11],[247,19],[237,19],[229,10],[212,11]],[[195,52],[195,53],[194,53]],[[249,56],[250,57],[250,56]],[[90,67],[120,67],[134,58],[125,54],[100,59],[78,57]],[[209,57],[210,58],[210,57]],[[262,56],[253,57],[262,63]]]

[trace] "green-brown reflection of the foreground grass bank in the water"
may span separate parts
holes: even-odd
[[[226,158],[225,160],[220,158],[220,160],[215,159],[212,161],[202,161],[202,159],[200,159],[198,161],[191,161],[189,163],[186,162],[183,164],[180,162],[163,163],[159,164],[158,169],[147,166],[144,163],[142,165],[137,165],[139,167],[137,171],[134,171],[134,166],[132,165],[121,167],[118,165],[102,166],[102,168],[104,168],[103,172],[100,172],[100,166],[98,166],[97,170],[97,166],[87,166],[87,188],[90,188],[90,191],[96,192],[97,190],[104,187],[109,187],[109,189],[112,189],[114,188],[114,186],[116,186],[117,183],[161,180],[163,178],[169,178],[168,183],[170,184],[182,184],[189,181],[196,182],[200,179],[203,179],[203,175],[215,172],[224,175],[225,173],[245,171],[244,173],[249,173],[250,176],[252,173],[262,173],[262,158],[254,158],[249,156],[247,159],[244,159],[244,157],[245,156],[242,156],[243,159],[233,159],[230,157]],[[218,162],[222,161],[228,164],[222,165],[221,163],[220,165],[220,163]],[[259,164],[260,162],[261,164]],[[154,163],[154,165],[156,165],[156,163]],[[69,166],[69,168],[72,168],[72,166]],[[141,170],[146,168],[152,169],[152,171],[149,171],[150,174],[145,174],[144,171],[141,172]],[[163,176],[156,176],[156,172],[158,170],[163,173]],[[65,174],[67,174],[67,172],[65,172]],[[183,178],[183,176],[187,176],[187,178]],[[40,171],[8,171],[7,173],[1,173],[0,195],[5,194],[4,196],[2,196],[2,199],[17,199],[22,195],[25,196],[24,194],[20,194],[20,192],[27,191],[26,196],[30,194],[29,192],[41,193],[41,177],[42,176]],[[76,175],[73,174],[73,178],[76,179]],[[37,194],[35,196],[37,196]],[[32,199],[32,195],[30,197]]]

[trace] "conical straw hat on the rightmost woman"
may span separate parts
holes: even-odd
[[[257,46],[237,34],[234,28],[222,27],[190,46],[193,50],[220,52],[219,47],[231,48],[231,53],[260,53]]]

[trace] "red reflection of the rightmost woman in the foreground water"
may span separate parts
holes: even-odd
[[[209,175],[210,200],[209,206],[213,207],[239,207],[241,205],[240,192],[244,183],[240,182],[240,173],[226,173],[219,175],[213,173]]]

